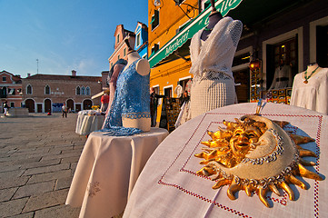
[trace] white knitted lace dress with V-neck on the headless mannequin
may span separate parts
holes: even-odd
[[[243,24],[231,17],[221,19],[206,41],[203,29],[192,38],[190,54],[194,74],[191,90],[191,116],[236,103],[234,76],[231,70]]]

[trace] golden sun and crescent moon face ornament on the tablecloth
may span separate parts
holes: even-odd
[[[316,155],[298,144],[313,142],[309,137],[287,134],[281,127],[286,122],[273,122],[258,115],[245,115],[235,122],[225,122],[226,129],[208,132],[211,140],[202,142],[204,152],[195,154],[203,158],[204,167],[197,173],[210,176],[216,181],[213,188],[229,185],[228,197],[235,200],[234,193],[244,190],[248,196],[257,193],[267,207],[270,203],[266,193],[271,191],[280,196],[283,189],[294,200],[290,184],[303,189],[307,185],[296,176],[323,180],[304,165],[315,165],[302,157]]]

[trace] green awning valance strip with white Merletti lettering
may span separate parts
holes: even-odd
[[[219,0],[215,3],[215,7],[222,15],[228,14],[230,10],[233,10],[243,0]],[[175,35],[168,43],[166,43],[160,50],[149,57],[149,64],[151,67],[158,64],[168,55],[174,53],[176,49],[184,45],[184,43],[192,38],[195,33],[208,24],[208,15],[211,13],[211,7],[207,8],[204,12],[198,15],[194,20],[184,27],[179,34]]]

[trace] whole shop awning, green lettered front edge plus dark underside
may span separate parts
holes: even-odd
[[[306,1],[305,1],[306,2]],[[288,13],[295,6],[304,4],[303,0],[219,0],[215,7],[222,15],[229,15],[234,19],[241,20],[244,25],[262,24],[281,13]],[[234,9],[234,10],[233,10]],[[174,36],[168,43],[149,57],[149,64],[154,67],[178,48],[183,46],[188,39],[208,24],[208,15],[211,7],[192,20],[184,29]],[[229,14],[228,14],[229,13]],[[172,55],[171,55],[172,56]]]

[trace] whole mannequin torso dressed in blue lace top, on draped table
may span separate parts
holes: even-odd
[[[150,131],[150,66],[125,40],[129,50],[127,64],[119,74],[114,101],[102,132],[107,135],[132,135]]]

